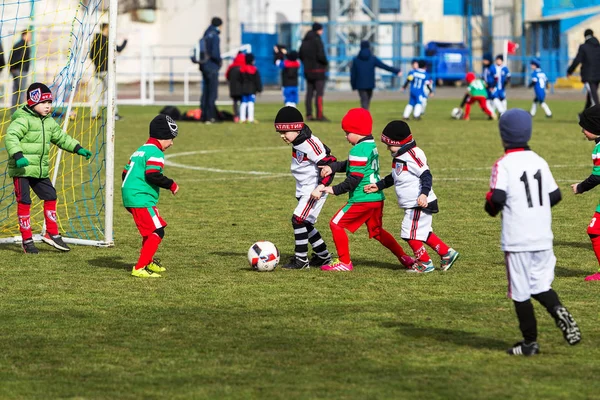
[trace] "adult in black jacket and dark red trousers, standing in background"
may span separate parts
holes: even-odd
[[[325,46],[321,40],[323,25],[315,22],[300,46],[299,56],[304,64],[304,77],[306,78],[306,119],[328,121],[323,115],[323,95],[325,94],[325,72],[327,71],[327,56]],[[312,99],[316,94],[316,118],[313,115]]]

